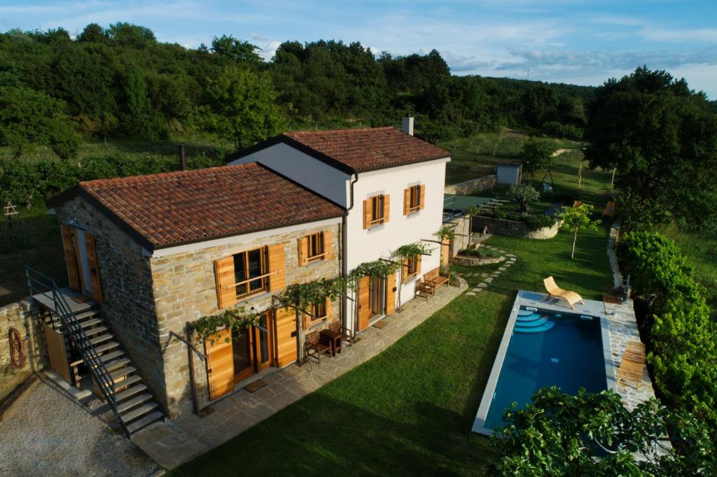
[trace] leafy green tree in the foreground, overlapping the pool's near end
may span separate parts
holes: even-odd
[[[503,421],[492,438],[503,476],[693,476],[717,470],[708,427],[654,398],[631,411],[612,391],[568,395],[543,387],[532,404],[506,410]]]

